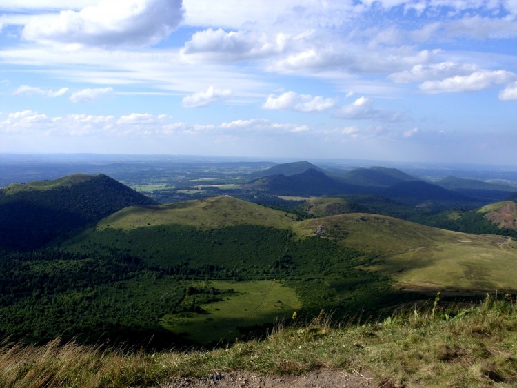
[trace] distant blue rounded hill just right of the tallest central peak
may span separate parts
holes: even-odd
[[[414,176],[401,170],[385,167],[356,168],[343,174],[341,179],[349,185],[362,187],[391,187],[397,183],[416,181]]]

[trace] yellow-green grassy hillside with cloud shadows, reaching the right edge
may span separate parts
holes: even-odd
[[[517,289],[517,242],[497,236],[450,232],[372,214],[301,221],[294,231],[323,236],[378,254],[369,269],[394,276],[403,287]]]

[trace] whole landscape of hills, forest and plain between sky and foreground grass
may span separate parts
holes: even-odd
[[[214,346],[294,312],[365,322],[438,291],[467,303],[517,290],[517,186],[152,163],[118,165],[120,181],[81,172],[1,189],[0,336]]]

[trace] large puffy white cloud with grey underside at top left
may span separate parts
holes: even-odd
[[[23,38],[40,43],[143,46],[167,37],[182,19],[181,0],[100,0],[80,11],[35,17],[23,28]]]

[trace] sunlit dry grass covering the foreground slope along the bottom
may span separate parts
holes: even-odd
[[[369,371],[391,387],[517,386],[517,305],[512,296],[478,305],[408,308],[359,325],[331,314],[278,323],[263,340],[213,350],[105,349],[54,340],[3,343],[1,387],[152,387],[171,376],[244,369],[301,374],[315,369]]]

